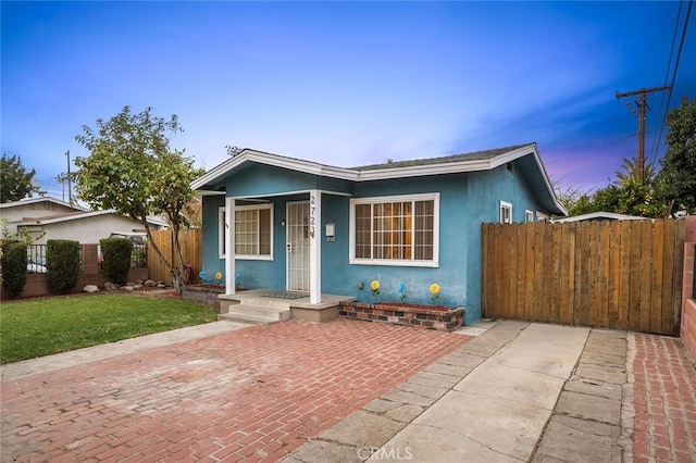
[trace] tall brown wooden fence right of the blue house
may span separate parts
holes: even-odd
[[[684,221],[482,225],[482,310],[679,336]]]

